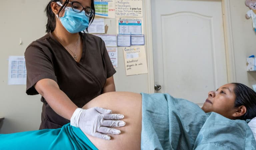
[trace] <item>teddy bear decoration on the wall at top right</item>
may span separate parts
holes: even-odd
[[[246,18],[252,18],[252,26],[256,32],[256,0],[246,0],[245,4],[250,8],[246,13]]]

